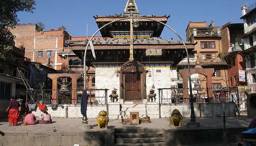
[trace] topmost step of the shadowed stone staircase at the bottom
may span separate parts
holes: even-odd
[[[117,133],[154,133],[163,132],[162,128],[115,128],[115,134]]]

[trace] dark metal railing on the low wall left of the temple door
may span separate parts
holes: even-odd
[[[106,105],[108,103],[109,89],[87,89],[89,105]],[[75,97],[72,99],[72,95]],[[81,104],[83,91],[72,89],[69,92],[60,92],[59,90],[35,90],[27,89],[26,99],[30,104],[52,104],[52,99],[56,99],[57,104],[71,104],[72,100],[77,105]],[[96,96],[97,95],[97,96]]]

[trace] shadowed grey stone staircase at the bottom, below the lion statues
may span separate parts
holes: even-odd
[[[115,128],[114,146],[165,146],[162,129]]]

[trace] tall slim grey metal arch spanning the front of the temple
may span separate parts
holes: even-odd
[[[114,22],[118,22],[120,20],[125,20],[125,19],[147,19],[147,20],[151,20],[151,21],[154,21],[154,22],[158,22],[160,24],[163,24],[164,26],[166,26],[167,28],[169,28],[171,31],[173,31],[174,34],[176,34],[178,36],[178,38],[180,38],[181,42],[183,43],[184,47],[185,47],[185,50],[186,50],[186,53],[187,53],[187,59],[188,59],[188,78],[189,78],[189,88],[190,88],[190,99],[191,99],[191,122],[195,122],[195,113],[194,113],[194,110],[192,110],[192,108],[194,108],[193,106],[193,93],[192,93],[192,83],[191,83],[191,73],[190,73],[190,63],[189,63],[189,55],[188,55],[188,49],[187,49],[187,46],[185,45],[183,39],[180,37],[180,35],[173,29],[171,28],[170,26],[168,26],[167,24],[165,23],[162,23],[158,20],[154,20],[154,19],[150,19],[150,18],[144,18],[144,17],[127,17],[127,18],[121,18],[121,19],[118,19],[118,20],[114,20],[112,22],[109,22],[108,24],[102,26],[101,28],[99,28],[90,38],[90,40],[88,41],[87,43],[87,46],[86,46],[86,49],[84,51],[84,90],[86,90],[86,52],[87,52],[87,49],[88,49],[88,46],[89,46],[89,42],[93,39],[93,37],[104,27],[108,26],[109,24],[112,24]],[[130,35],[133,35],[133,34],[130,34]],[[130,40],[131,41],[131,40]],[[193,112],[193,114],[192,114]]]

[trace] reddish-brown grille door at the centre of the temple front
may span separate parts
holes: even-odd
[[[141,100],[140,74],[125,74],[125,101]]]

